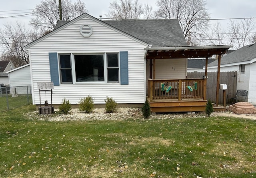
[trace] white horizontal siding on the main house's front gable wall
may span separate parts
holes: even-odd
[[[93,33],[90,37],[85,38],[80,34],[82,24],[92,26]],[[60,104],[62,99],[66,98],[72,104],[78,104],[80,98],[90,95],[94,98],[95,104],[104,104],[106,96],[113,97],[120,104],[144,103],[144,47],[144,44],[88,18],[74,21],[66,28],[52,32],[52,35],[29,48],[34,90],[33,104],[39,104],[37,82],[51,80],[49,52],[75,55],[119,53],[120,51],[128,51],[128,85],[120,85],[120,83],[60,84],[60,86],[54,86],[52,102]],[[41,97],[50,100],[49,94]]]

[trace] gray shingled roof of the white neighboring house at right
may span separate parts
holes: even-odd
[[[220,65],[236,62],[250,61],[256,58],[256,44],[250,44],[227,54],[221,58]],[[208,66],[217,66],[218,61],[210,63]]]

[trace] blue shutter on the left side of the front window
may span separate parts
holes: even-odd
[[[59,68],[58,68],[58,54],[56,52],[49,52],[49,62],[50,62],[50,74],[51,81],[54,86],[60,85],[59,80]]]

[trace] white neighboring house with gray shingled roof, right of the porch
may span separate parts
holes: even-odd
[[[217,62],[208,65],[208,72],[217,71]],[[224,56],[220,72],[237,71],[236,90],[247,90],[247,101],[256,104],[256,44],[244,46]]]

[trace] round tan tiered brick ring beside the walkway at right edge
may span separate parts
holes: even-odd
[[[256,114],[256,108],[248,102],[237,102],[230,105],[228,110],[236,114]]]

